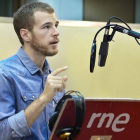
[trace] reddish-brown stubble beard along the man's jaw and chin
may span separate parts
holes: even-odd
[[[37,54],[43,55],[45,57],[54,56],[58,53],[58,50],[50,51],[50,49],[48,48],[49,46],[47,44],[42,44],[41,42],[39,42],[34,33],[32,33],[31,47]]]

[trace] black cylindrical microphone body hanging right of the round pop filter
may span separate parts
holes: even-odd
[[[105,66],[107,55],[108,55],[109,41],[110,41],[109,27],[106,27],[103,42],[101,42],[100,51],[99,51],[98,66],[100,67]]]

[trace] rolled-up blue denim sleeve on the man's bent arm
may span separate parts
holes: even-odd
[[[24,110],[16,113],[12,79],[0,70],[0,140],[20,140],[31,135]]]

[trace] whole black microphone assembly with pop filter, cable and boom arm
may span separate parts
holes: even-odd
[[[121,21],[127,27],[123,27],[123,26],[117,25],[117,24],[110,24],[110,21],[112,19],[117,19],[117,20]],[[111,34],[109,34],[110,28],[113,29]],[[100,67],[103,67],[106,64],[108,49],[109,49],[109,42],[112,41],[116,31],[134,37],[136,42],[140,45],[140,42],[137,40],[137,39],[140,39],[140,33],[131,30],[129,25],[125,21],[120,19],[119,17],[113,16],[113,17],[109,18],[106,26],[103,26],[101,29],[99,29],[94,36],[93,44],[92,44],[92,47],[91,47],[91,54],[90,54],[90,72],[94,71],[94,66],[95,66],[96,38],[97,38],[97,35],[100,33],[100,31],[102,31],[103,29],[105,29],[105,33],[104,33],[103,41],[101,42],[101,45],[100,45],[99,60],[98,60],[98,66],[100,66]]]

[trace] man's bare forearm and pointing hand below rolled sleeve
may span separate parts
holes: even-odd
[[[55,94],[59,91],[63,91],[66,87],[67,76],[57,76],[65,70],[67,70],[67,67],[62,67],[48,75],[43,93],[25,109],[25,117],[29,127],[32,126],[44,107],[53,99]]]

